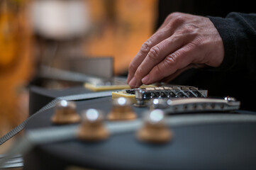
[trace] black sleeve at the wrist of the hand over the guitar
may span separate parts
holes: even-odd
[[[229,13],[226,18],[211,17],[223,39],[225,57],[216,70],[239,71],[256,79],[256,13]]]

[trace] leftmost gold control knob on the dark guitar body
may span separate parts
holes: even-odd
[[[74,101],[62,100],[55,106],[55,114],[52,116],[52,123],[54,124],[69,124],[77,123],[81,120],[77,114],[77,106]]]

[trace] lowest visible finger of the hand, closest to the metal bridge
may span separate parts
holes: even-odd
[[[188,67],[194,60],[194,56],[197,55],[196,53],[197,52],[191,48],[190,45],[185,45],[173,52],[165,57],[165,60],[162,60],[162,62],[152,68],[150,73],[142,79],[143,84],[152,84],[156,81],[160,81],[178,72],[180,69],[184,71],[183,69]]]

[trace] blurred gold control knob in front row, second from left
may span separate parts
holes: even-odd
[[[80,140],[86,141],[105,140],[109,136],[101,111],[94,108],[82,111],[82,125],[78,129],[77,136]]]

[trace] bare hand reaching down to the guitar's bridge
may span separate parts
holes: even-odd
[[[190,67],[221,65],[224,46],[209,18],[171,13],[130,62],[131,88],[169,81]]]

